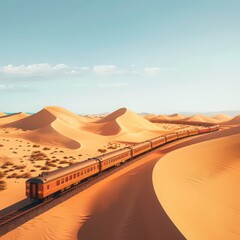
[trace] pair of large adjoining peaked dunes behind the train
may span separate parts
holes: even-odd
[[[11,134],[12,137],[21,137],[43,145],[70,149],[77,149],[81,146],[90,149],[93,138],[95,143],[102,146],[104,142],[113,140],[107,139],[106,136],[125,142],[126,137],[122,136],[123,134],[137,133],[137,136],[133,136],[136,141],[136,137],[144,140],[154,137],[161,131],[158,126],[126,108],[121,108],[95,121],[56,106],[45,107],[24,118],[16,117],[16,115],[18,114],[15,114],[15,118],[11,121],[8,120],[6,124],[1,125],[1,127],[24,130],[18,133],[18,136]],[[121,139],[116,139],[120,135]]]

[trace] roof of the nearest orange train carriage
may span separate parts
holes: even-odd
[[[41,174],[39,174],[38,177],[30,178],[27,180],[27,182],[47,183],[54,179],[61,178],[72,172],[78,171],[82,168],[91,166],[92,164],[95,164],[97,162],[98,162],[97,159],[84,160],[83,162],[75,163],[68,167],[60,168],[60,169],[54,170],[52,172],[42,172]]]

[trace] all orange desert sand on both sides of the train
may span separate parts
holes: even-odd
[[[237,239],[240,121],[218,118],[223,130],[165,145],[2,239]],[[90,118],[46,107],[4,123],[0,165],[14,165],[6,168],[0,214],[25,198],[25,179],[7,178],[13,172],[37,175],[42,167],[54,170],[99,155],[99,149],[113,151],[187,128],[153,124],[125,108]],[[34,157],[36,151],[43,153],[40,159]]]

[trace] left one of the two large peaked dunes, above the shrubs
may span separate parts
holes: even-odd
[[[83,117],[60,107],[46,107],[3,127],[30,130],[21,136],[33,142],[76,149],[81,146],[77,131],[82,125]]]

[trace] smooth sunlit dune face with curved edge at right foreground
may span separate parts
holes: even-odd
[[[187,239],[240,239],[240,127],[231,133],[173,151],[154,168],[159,201]]]

